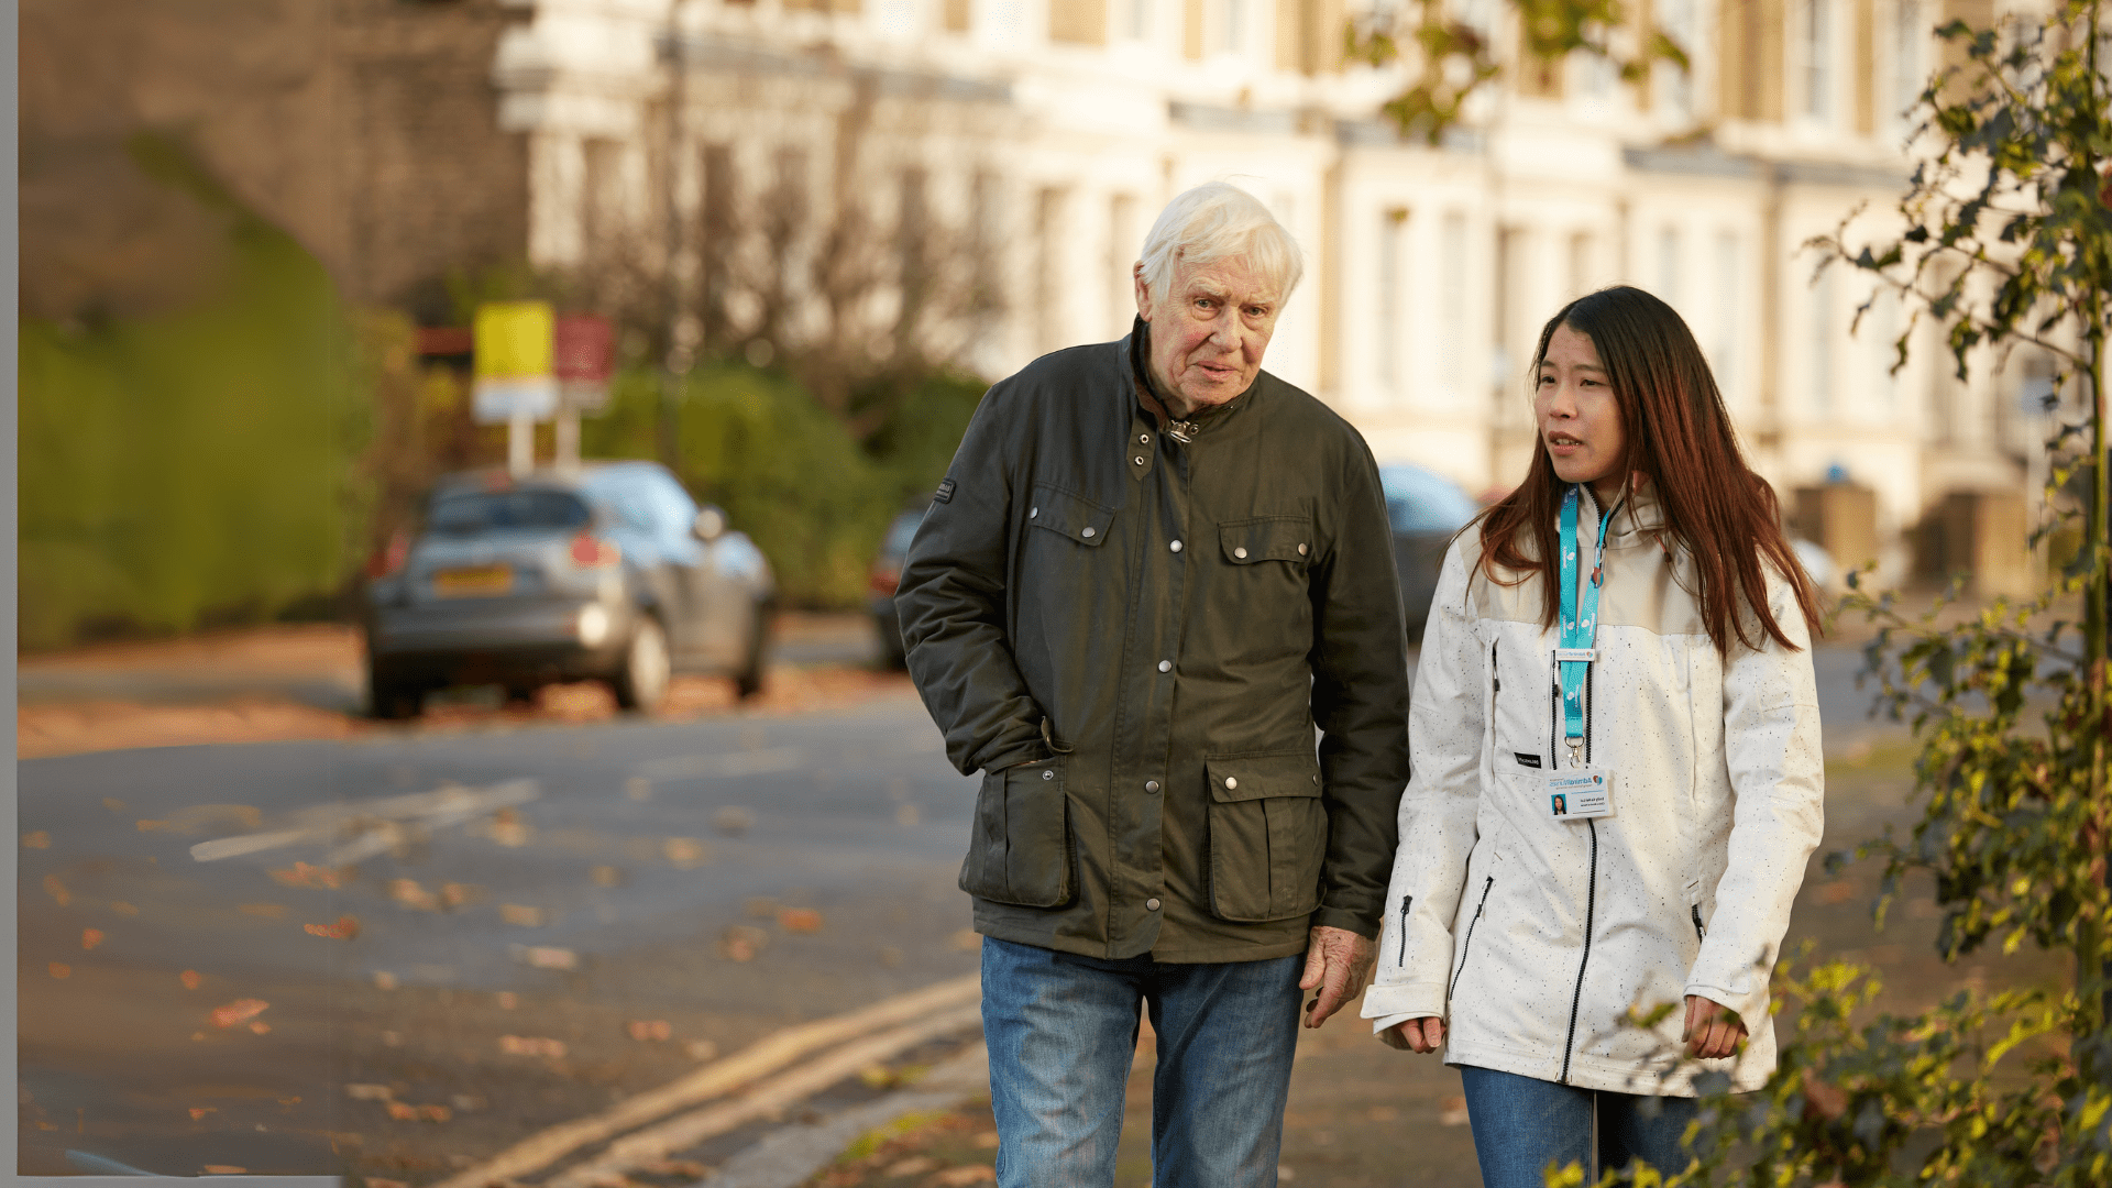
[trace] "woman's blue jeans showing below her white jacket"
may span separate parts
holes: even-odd
[[[1474,1125],[1474,1158],[1483,1188],[1542,1188],[1552,1163],[1584,1167],[1584,1182],[1649,1161],[1658,1171],[1685,1171],[1679,1137],[1694,1120],[1692,1097],[1637,1097],[1533,1080],[1514,1072],[1459,1065],[1466,1114]],[[1592,1167],[1592,1114],[1599,1165]]]

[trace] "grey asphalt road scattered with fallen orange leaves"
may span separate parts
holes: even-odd
[[[1816,660],[1829,748],[1854,746],[1859,657]],[[429,1184],[976,964],[974,782],[912,695],[114,750],[19,788],[23,1173]]]

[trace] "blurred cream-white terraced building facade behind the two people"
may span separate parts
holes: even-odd
[[[876,186],[845,152],[864,137],[917,175],[889,175],[874,209],[929,203],[984,245],[997,300],[959,351],[997,378],[1124,334],[1149,220],[1225,178],[1307,254],[1269,370],[1381,461],[1470,493],[1514,484],[1542,323],[1635,283],[1694,328],[1785,501],[1829,478],[1875,493],[1886,571],[1947,493],[2025,482],[2038,423],[2017,385],[1958,383],[1935,338],[1894,374],[1903,313],[1880,302],[1850,334],[1867,281],[1812,283],[1804,249],[1865,203],[1859,226],[1884,228],[1911,173],[1897,112],[1939,63],[1932,30],[1985,4],[1656,0],[1690,72],[1514,68],[1432,148],[1377,114],[1400,68],[1341,63],[1339,0],[515,2],[532,13],[494,80],[503,123],[530,137],[536,264],[579,264],[625,224],[708,273],[727,186],[769,205],[762,180],[796,171],[803,201],[843,201]],[[1519,44],[1506,4],[1455,11]]]

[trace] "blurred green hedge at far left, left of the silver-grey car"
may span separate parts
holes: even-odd
[[[365,419],[323,266],[161,142],[135,159],[226,218],[215,296],[21,321],[21,647],[182,632],[327,596],[363,516]]]

